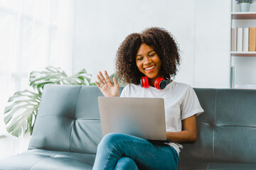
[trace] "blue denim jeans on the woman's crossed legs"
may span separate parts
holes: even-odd
[[[97,147],[93,169],[177,169],[173,147],[139,137],[110,133]]]

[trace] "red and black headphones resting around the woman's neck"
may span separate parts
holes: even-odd
[[[154,86],[155,86],[156,89],[162,90],[170,82],[171,82],[171,79],[164,79],[164,78],[159,77],[154,82]],[[142,87],[144,87],[144,88],[149,87],[149,79],[147,77],[142,77],[142,79],[140,79],[140,83],[141,83]]]

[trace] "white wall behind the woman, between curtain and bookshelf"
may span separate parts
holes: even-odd
[[[94,80],[99,70],[114,73],[115,54],[124,38],[158,26],[169,30],[181,48],[176,81],[228,88],[231,4],[220,2],[75,0],[73,73],[85,68]]]

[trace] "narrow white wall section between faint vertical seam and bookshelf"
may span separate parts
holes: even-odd
[[[230,0],[197,0],[194,86],[229,88]]]

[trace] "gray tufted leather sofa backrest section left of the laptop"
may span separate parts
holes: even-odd
[[[28,149],[95,154],[102,138],[98,96],[97,86],[46,85]]]

